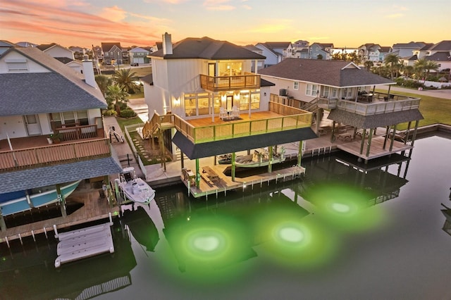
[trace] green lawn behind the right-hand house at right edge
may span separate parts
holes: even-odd
[[[376,90],[377,92],[377,90]],[[378,92],[386,92],[380,90]],[[421,98],[420,101],[420,112],[424,119],[420,120],[419,126],[432,125],[435,123],[443,123],[446,125],[451,125],[451,100],[443,98],[435,98],[431,96],[405,93],[405,92],[395,92],[395,94],[411,96],[414,98]],[[413,126],[413,125],[412,125]],[[398,130],[407,129],[407,123],[397,126]]]

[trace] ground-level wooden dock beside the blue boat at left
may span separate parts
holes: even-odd
[[[16,227],[7,228],[0,232],[0,242],[10,242],[13,239],[22,239],[37,234],[48,234],[56,229],[89,223],[96,220],[106,219],[119,214],[119,208],[116,204],[109,204],[108,200],[100,197],[101,189],[92,189],[88,184],[80,182],[75,191],[68,196],[66,202],[75,201],[82,203],[83,206],[77,211],[71,213],[66,218],[58,217],[48,220],[42,220],[35,223],[28,223]]]

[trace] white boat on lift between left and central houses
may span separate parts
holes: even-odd
[[[123,169],[115,182],[117,186],[116,193],[120,189],[124,200],[148,204],[155,198],[154,189],[140,177],[136,177],[135,168],[133,167]]]

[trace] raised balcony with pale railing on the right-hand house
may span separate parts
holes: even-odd
[[[408,96],[371,93],[359,96],[357,99],[328,99],[320,97],[317,102],[319,108],[340,109],[357,113],[358,115],[377,115],[381,113],[393,113],[396,111],[408,111],[419,108],[420,99]]]

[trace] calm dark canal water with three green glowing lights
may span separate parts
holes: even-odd
[[[113,255],[56,270],[51,238],[1,244],[0,299],[451,299],[450,153],[432,136],[410,161],[306,159],[302,180],[208,201],[158,190],[123,207]]]

